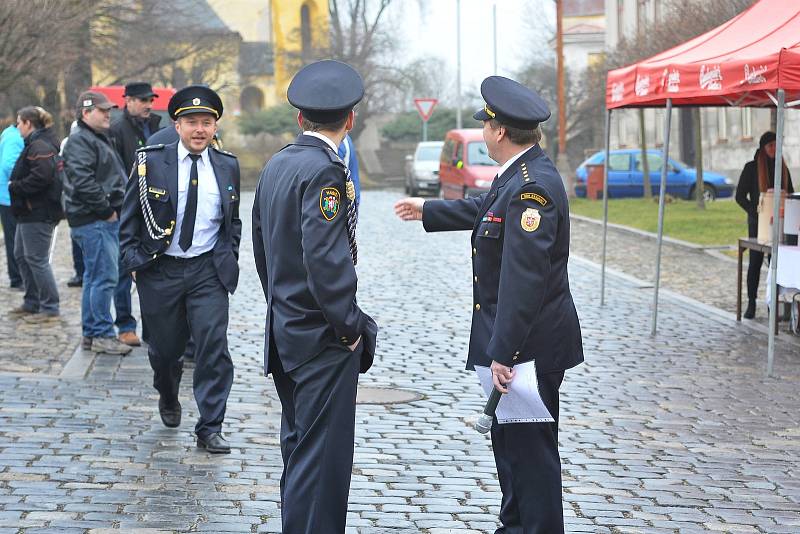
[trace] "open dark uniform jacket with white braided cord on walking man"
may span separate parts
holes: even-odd
[[[147,201],[156,223],[168,228],[178,213],[178,143],[139,149],[147,151]],[[139,152],[137,151],[137,153]],[[239,281],[239,242],[242,221],[239,219],[239,161],[229,152],[213,147],[208,149],[214,175],[217,178],[222,203],[222,224],[214,245],[214,265],[222,285],[233,293]],[[125,188],[125,201],[119,229],[122,267],[128,271],[143,271],[169,247],[176,235],[154,240],[145,227],[139,201],[139,175],[133,173]]]

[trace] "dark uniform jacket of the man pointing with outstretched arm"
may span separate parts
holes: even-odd
[[[567,276],[569,205],[561,177],[538,145],[491,189],[425,202],[428,232],[472,230],[473,310],[467,368],[536,360],[539,373],[583,361]]]

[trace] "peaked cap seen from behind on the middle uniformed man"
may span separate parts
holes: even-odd
[[[326,59],[300,69],[286,96],[308,120],[330,124],[347,117],[364,98],[364,81],[350,65]]]

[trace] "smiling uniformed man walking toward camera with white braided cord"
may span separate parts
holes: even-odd
[[[186,340],[196,344],[197,446],[228,453],[221,434],[233,382],[228,352],[228,293],[239,278],[239,163],[210,147],[222,116],[203,86],[169,102],[180,140],[138,151],[122,210],[122,262],[135,272],[161,420],[181,420],[178,391]]]

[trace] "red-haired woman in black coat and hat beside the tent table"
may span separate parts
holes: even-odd
[[[789,193],[794,193],[792,177],[786,162],[783,161],[783,173],[781,189]],[[752,161],[748,161],[742,175],[739,177],[739,185],[736,186],[736,202],[747,212],[747,235],[756,237],[758,235],[758,200],[761,193],[767,189],[772,189],[775,183],[775,132],[766,132],[758,142],[758,150]],[[758,279],[761,274],[761,264],[764,262],[764,254],[761,252],[750,251],[750,265],[747,268],[747,310],[744,312],[745,319],[752,319],[756,315],[756,294],[758,293]]]

